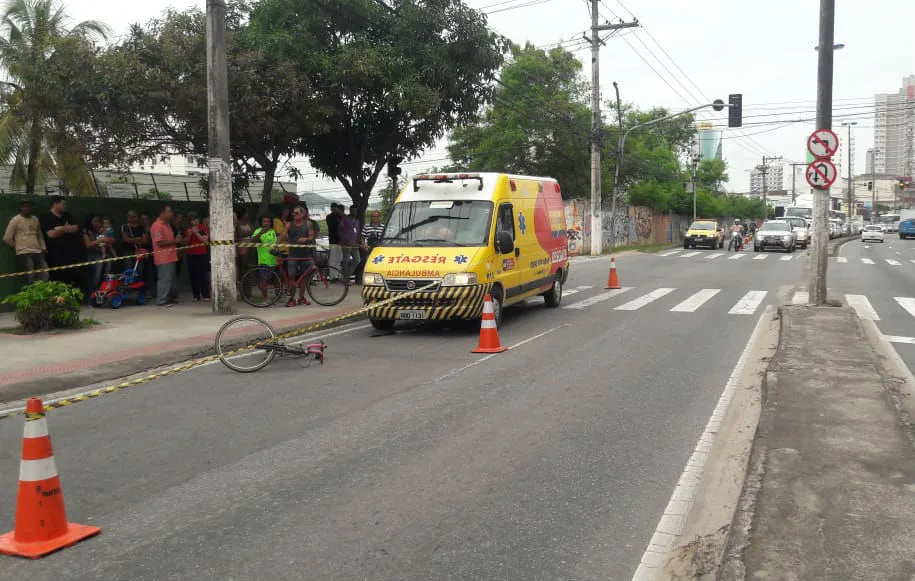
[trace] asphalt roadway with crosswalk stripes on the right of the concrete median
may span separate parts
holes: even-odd
[[[831,298],[872,319],[884,335],[899,340],[893,347],[915,370],[915,240],[887,233],[884,243],[856,240],[829,259],[826,285]]]

